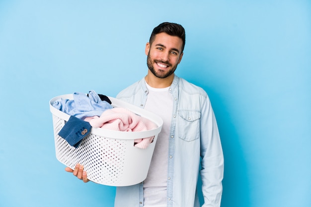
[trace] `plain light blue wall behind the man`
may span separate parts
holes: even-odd
[[[311,1],[0,0],[0,206],[112,207],[56,160],[49,100],[116,94],[147,73],[163,21],[187,41],[177,75],[210,95],[222,207],[311,206]]]

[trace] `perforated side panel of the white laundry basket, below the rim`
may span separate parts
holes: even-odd
[[[65,121],[53,115],[55,150],[59,161],[74,168],[83,164],[88,179],[105,185],[117,185],[123,176],[127,140],[117,140],[90,134],[78,148],[70,146],[58,135]]]

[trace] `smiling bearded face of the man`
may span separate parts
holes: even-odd
[[[147,65],[150,71],[158,78],[171,76],[177,68],[183,53],[182,40],[164,32],[156,35],[152,44],[147,43]]]

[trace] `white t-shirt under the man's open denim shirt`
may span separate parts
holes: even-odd
[[[149,94],[145,109],[159,115],[163,119],[163,126],[157,136],[154,155],[144,181],[144,207],[166,207],[168,139],[173,99],[168,91],[169,87],[158,89],[152,88],[148,84],[147,87]]]

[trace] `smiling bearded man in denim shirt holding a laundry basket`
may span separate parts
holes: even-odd
[[[117,187],[115,207],[199,207],[199,172],[203,207],[220,206],[224,157],[211,103],[202,88],[174,74],[184,45],[181,25],[158,25],[146,44],[147,76],[117,96],[158,114],[163,126],[146,180]],[[88,181],[83,166],[66,170]]]

